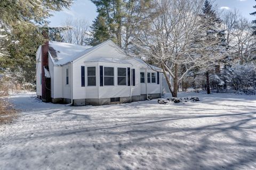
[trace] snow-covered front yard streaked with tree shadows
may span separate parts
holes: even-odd
[[[67,107],[13,95],[21,112],[0,127],[0,169],[256,169],[256,96],[179,95],[201,101]]]

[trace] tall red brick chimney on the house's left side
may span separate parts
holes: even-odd
[[[48,39],[48,31],[43,31],[43,36]],[[49,41],[42,45],[42,101],[51,101],[51,78],[45,77],[45,69],[49,71],[48,63]]]

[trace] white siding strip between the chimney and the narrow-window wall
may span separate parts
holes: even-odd
[[[65,86],[65,84],[63,84],[63,72],[62,72],[62,67],[61,66],[54,66],[54,87],[53,87],[53,91],[54,91],[54,98],[63,98],[62,95],[62,88],[63,86]],[[66,73],[66,71],[65,71]],[[66,80],[66,79],[65,79]]]

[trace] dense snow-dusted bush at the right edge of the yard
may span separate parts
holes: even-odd
[[[252,94],[256,90],[256,67],[253,64],[239,65],[232,68],[230,87],[236,91]],[[255,93],[255,92],[254,92]]]

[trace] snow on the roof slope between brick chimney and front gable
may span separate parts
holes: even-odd
[[[81,57],[81,55],[78,55],[79,53],[84,52],[89,48],[91,48],[91,46],[79,46],[69,43],[49,41],[49,52],[53,59],[53,63],[56,65],[63,65],[76,60]]]

